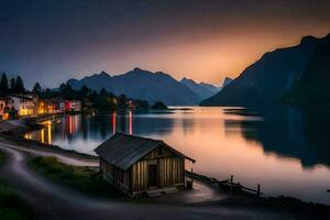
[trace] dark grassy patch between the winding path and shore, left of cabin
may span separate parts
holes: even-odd
[[[51,180],[78,191],[107,198],[121,196],[118,190],[102,179],[102,176],[96,169],[76,167],[63,164],[56,157],[43,156],[32,158],[29,165]]]

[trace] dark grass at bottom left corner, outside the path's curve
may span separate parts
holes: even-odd
[[[6,155],[0,152],[0,166],[6,162]],[[0,219],[30,220],[33,219],[32,208],[0,179]]]

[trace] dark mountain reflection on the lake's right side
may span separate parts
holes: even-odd
[[[266,152],[298,158],[305,167],[330,165],[329,112],[294,107],[262,110],[264,120],[224,120],[226,132],[240,128],[246,140],[260,142]]]

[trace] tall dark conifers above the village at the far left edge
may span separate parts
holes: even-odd
[[[9,94],[25,94],[25,87],[23,79],[18,76],[13,77],[10,80],[7,77],[7,74],[2,74],[0,81],[0,97],[6,97]]]

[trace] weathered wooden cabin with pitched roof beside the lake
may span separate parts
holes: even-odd
[[[105,179],[131,197],[185,187],[185,160],[195,163],[161,140],[122,133],[116,133],[95,152]]]

